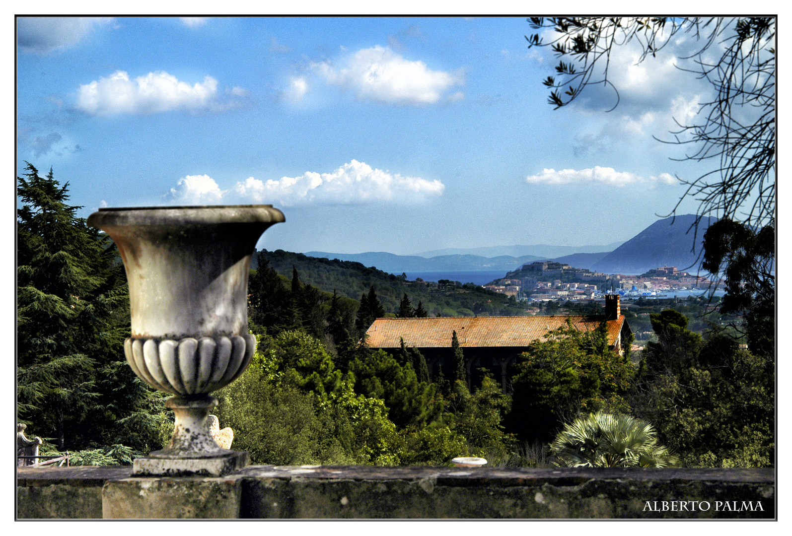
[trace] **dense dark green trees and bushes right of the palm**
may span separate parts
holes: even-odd
[[[657,342],[642,352],[630,403],[687,466],[775,463],[772,359],[730,337],[703,338],[673,310],[652,315]]]

